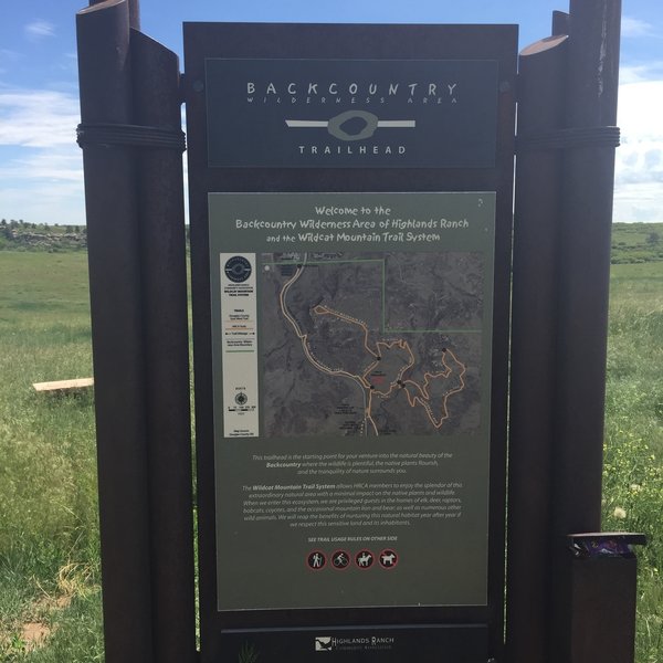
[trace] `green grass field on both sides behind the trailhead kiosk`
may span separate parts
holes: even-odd
[[[649,251],[648,236],[622,249]],[[92,397],[44,397],[31,387],[92,375],[86,260],[84,252],[0,251],[2,663],[103,660]],[[650,537],[638,662],[660,663],[663,262],[614,264],[611,282],[604,529]]]

